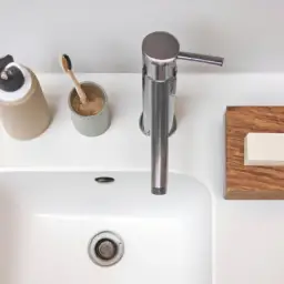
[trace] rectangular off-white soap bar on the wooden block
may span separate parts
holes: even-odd
[[[248,133],[244,141],[245,165],[284,165],[284,133]]]

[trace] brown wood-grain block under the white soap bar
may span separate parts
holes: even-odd
[[[225,199],[284,200],[284,166],[244,165],[246,134],[284,133],[284,106],[229,106],[225,123]]]

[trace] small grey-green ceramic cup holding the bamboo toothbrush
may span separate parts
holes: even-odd
[[[99,136],[103,134],[111,125],[111,113],[109,109],[109,102],[105,91],[102,87],[94,82],[82,82],[82,89],[87,92],[88,90],[94,89],[95,92],[99,92],[103,99],[103,106],[101,111],[93,115],[81,115],[79,114],[72,106],[72,100],[77,94],[75,89],[73,88],[69,94],[68,105],[71,111],[71,120],[73,122],[74,128],[82,135],[85,136]]]

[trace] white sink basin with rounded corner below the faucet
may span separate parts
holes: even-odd
[[[106,175],[113,183],[99,184]],[[124,255],[101,267],[88,254],[102,231]],[[211,196],[193,179],[169,176],[151,194],[150,173],[2,173],[1,284],[210,284]]]

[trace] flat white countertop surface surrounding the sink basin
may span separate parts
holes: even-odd
[[[0,171],[150,169],[150,139],[139,129],[140,74],[79,75],[102,84],[111,102],[111,128],[94,139],[78,134],[71,124],[69,78],[39,79],[54,120],[32,141],[16,141],[1,130]],[[214,283],[282,284],[284,201],[225,201],[223,190],[226,105],[284,105],[284,74],[179,74],[176,104],[169,166],[196,178],[212,193]]]

